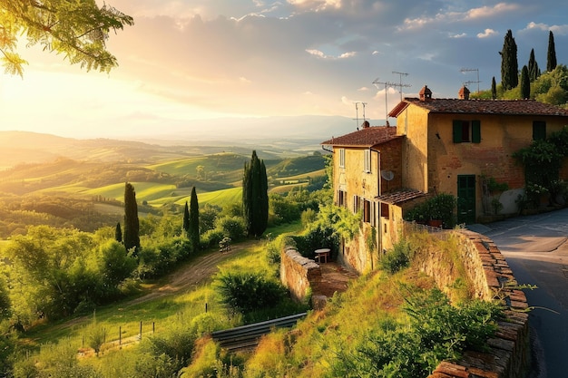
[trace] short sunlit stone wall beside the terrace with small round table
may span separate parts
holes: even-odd
[[[288,248],[280,255],[280,280],[290,295],[299,302],[308,300],[310,282],[321,280],[321,270],[314,260],[303,257],[296,249]]]

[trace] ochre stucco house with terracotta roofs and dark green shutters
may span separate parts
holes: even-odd
[[[338,257],[359,272],[374,269],[377,252],[397,240],[404,211],[429,196],[452,194],[458,223],[475,223],[486,212],[482,178],[493,178],[509,188],[499,198],[503,213],[516,212],[524,170],[512,154],[568,125],[568,110],[533,100],[470,100],[466,87],[456,99],[436,99],[425,86],[388,115],[397,126],[365,122],[321,143],[333,152],[335,203],[362,211],[359,237]]]

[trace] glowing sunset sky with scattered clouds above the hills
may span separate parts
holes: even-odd
[[[134,18],[107,43],[119,66],[86,72],[22,43],[24,78],[0,80],[0,131],[191,137],[191,128],[234,118],[302,115],[384,124],[401,96],[416,97],[425,84],[434,98],[455,98],[464,83],[475,92],[494,76],[500,82],[509,29],[519,68],[534,49],[545,69],[549,31],[558,63],[568,63],[564,1],[105,3]]]

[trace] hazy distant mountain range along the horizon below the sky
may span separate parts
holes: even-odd
[[[156,132],[152,139],[133,135],[128,141],[0,131],[0,169],[58,158],[152,162],[220,151],[250,155],[252,150],[261,159],[300,156],[321,151],[321,141],[356,131],[356,123],[326,116],[220,119],[195,121],[183,133]]]

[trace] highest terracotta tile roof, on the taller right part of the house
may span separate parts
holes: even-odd
[[[431,99],[420,101],[406,98],[388,113],[397,117],[409,104],[415,104],[430,112],[465,113],[465,114],[502,114],[502,115],[552,115],[568,117],[568,110],[534,100],[459,100]]]

